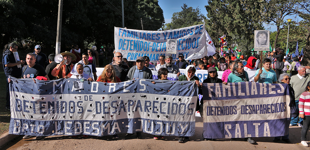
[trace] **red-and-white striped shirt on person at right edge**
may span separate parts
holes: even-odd
[[[299,114],[310,116],[310,92],[303,92],[299,98]]]

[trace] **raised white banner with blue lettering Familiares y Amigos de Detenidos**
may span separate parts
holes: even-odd
[[[136,61],[139,56],[148,56],[151,62],[155,62],[160,55],[171,53],[174,53],[171,55],[173,60],[178,59],[179,53],[183,53],[186,60],[203,58],[208,51],[205,32],[204,24],[166,31],[114,27],[115,51],[121,52],[128,61]],[[171,42],[167,43],[168,40]],[[213,45],[213,42],[210,44]],[[170,54],[166,53],[167,49]]]

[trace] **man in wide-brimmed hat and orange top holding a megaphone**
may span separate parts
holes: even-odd
[[[72,60],[76,59],[76,56],[73,53],[65,51],[64,53],[60,53],[64,60],[60,62],[53,70],[52,76],[57,77],[57,79],[66,78],[68,79],[71,77],[71,70],[73,69],[74,65],[72,64]]]

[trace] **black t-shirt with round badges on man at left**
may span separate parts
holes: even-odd
[[[46,72],[44,70],[44,67],[35,64],[33,67],[29,67],[28,65],[24,66],[22,77],[23,78],[36,78],[37,76],[46,76]]]

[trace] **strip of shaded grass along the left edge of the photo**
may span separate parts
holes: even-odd
[[[0,135],[9,131],[11,112],[5,109],[7,103],[6,93],[7,93],[7,82],[5,79],[5,74],[3,68],[0,68]]]

